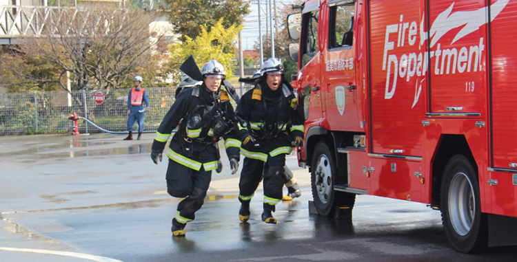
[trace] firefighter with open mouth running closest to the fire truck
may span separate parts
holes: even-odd
[[[245,156],[239,182],[239,219],[243,222],[250,219],[250,201],[263,179],[262,220],[276,223],[272,212],[282,199],[285,155],[303,142],[303,116],[284,74],[276,58],[265,61],[261,78],[242,96],[236,109],[241,120],[241,153]]]

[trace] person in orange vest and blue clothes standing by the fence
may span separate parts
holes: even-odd
[[[139,136],[138,140],[142,137],[143,132],[143,119],[145,117],[145,111],[149,110],[149,98],[148,94],[145,93],[140,85],[142,84],[142,77],[134,77],[134,87],[128,94],[128,137],[124,140],[133,140],[133,125],[134,121],[139,124]],[[143,104],[145,103],[145,108]]]

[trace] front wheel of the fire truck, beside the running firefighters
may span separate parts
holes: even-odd
[[[316,144],[311,166],[311,185],[314,206],[318,214],[330,217],[334,214],[334,182],[336,181],[334,153],[323,141]]]

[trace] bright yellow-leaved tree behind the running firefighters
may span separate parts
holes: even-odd
[[[172,63],[179,68],[181,63],[192,54],[198,67],[201,68],[203,63],[215,59],[225,67],[228,79],[234,71],[235,65],[232,63],[232,58],[235,54],[235,41],[242,28],[243,25],[232,25],[225,29],[223,19],[219,19],[210,28],[210,32],[207,32],[205,26],[201,26],[201,34],[196,39],[185,36],[185,42],[170,45]]]

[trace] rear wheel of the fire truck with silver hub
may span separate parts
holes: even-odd
[[[463,253],[487,246],[487,216],[481,213],[476,171],[463,155],[445,166],[441,191],[442,222],[453,248]]]

